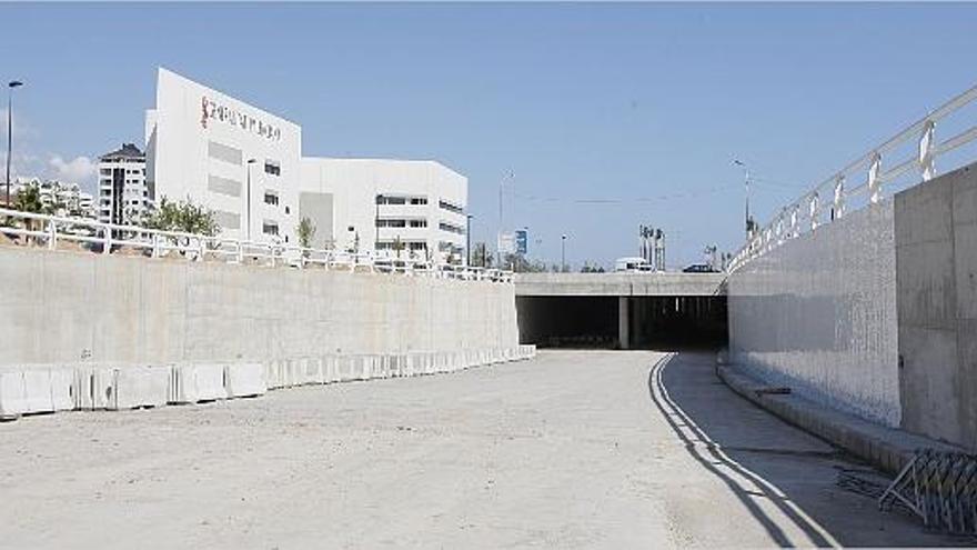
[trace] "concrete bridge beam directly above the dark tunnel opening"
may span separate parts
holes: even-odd
[[[517,296],[717,296],[725,273],[516,273]]]

